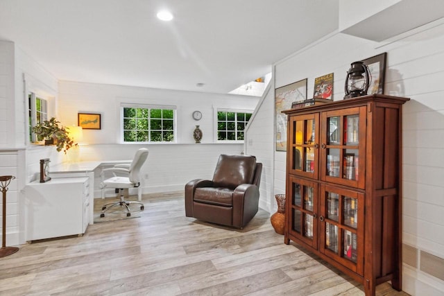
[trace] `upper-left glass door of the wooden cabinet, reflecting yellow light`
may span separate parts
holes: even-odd
[[[318,178],[319,114],[292,116],[289,122],[289,172],[294,175]]]

